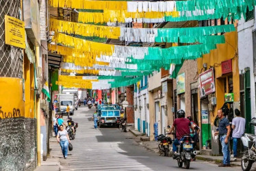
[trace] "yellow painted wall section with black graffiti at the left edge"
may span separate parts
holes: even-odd
[[[23,80],[0,77],[0,120],[25,116]]]

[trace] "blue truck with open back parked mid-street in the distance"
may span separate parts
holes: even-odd
[[[117,120],[120,119],[120,106],[118,105],[99,105],[98,106],[98,124],[101,128],[103,125],[117,125]]]

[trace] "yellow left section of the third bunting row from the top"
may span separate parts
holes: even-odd
[[[86,25],[55,19],[51,19],[51,31],[57,31],[66,34],[77,34],[81,36],[97,36],[99,38],[118,39],[120,36],[120,27]]]

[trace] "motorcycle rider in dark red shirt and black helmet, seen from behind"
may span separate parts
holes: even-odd
[[[190,128],[194,131],[190,120],[185,118],[185,111],[179,109],[176,115],[177,119],[175,119],[170,129],[170,133],[172,133],[176,128],[175,140],[172,143],[172,152],[175,154],[173,158],[177,157],[177,145],[179,145],[179,141],[182,140],[184,135],[190,135]]]

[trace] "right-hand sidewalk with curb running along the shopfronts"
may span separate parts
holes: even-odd
[[[151,141],[151,142],[142,142],[141,138],[146,137],[145,135],[142,135],[139,131],[136,131],[134,129],[130,129],[131,133],[135,135],[135,141],[138,142],[140,146],[143,146],[147,150],[151,150],[155,153],[159,153],[159,155],[162,155],[161,152],[159,152],[157,141]],[[199,151],[198,151],[199,153]],[[208,156],[208,155],[196,155],[196,159],[203,160],[203,161],[213,161],[215,163],[222,163],[222,156]],[[231,161],[231,166],[241,166],[241,159],[238,159],[236,161]]]

